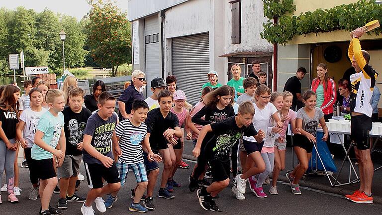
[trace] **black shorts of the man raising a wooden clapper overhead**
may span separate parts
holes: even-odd
[[[369,133],[372,130],[372,118],[362,114],[352,116],[350,125],[350,138],[355,142],[357,149],[370,149]]]

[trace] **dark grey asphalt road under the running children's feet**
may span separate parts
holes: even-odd
[[[193,166],[191,161],[186,161]],[[162,168],[162,166],[161,166]],[[82,174],[84,173],[83,166],[81,167]],[[156,210],[149,214],[156,215],[202,215],[213,214],[217,212],[204,211],[197,201],[195,193],[191,193],[188,189],[188,176],[191,173],[190,169],[179,169],[175,180],[182,185],[181,188],[175,190],[175,199],[164,200],[154,197]],[[107,209],[104,215],[124,215],[133,212],[128,211],[131,203],[130,189],[135,186],[135,177],[132,173],[128,175],[126,185],[121,189],[118,195],[118,201],[111,209]],[[158,185],[158,183],[157,183]],[[262,215],[280,215],[280,214],[335,214],[335,215],[380,215],[382,206],[377,204],[356,204],[344,199],[342,196],[335,194],[324,193],[309,188],[301,188],[302,195],[293,195],[290,187],[284,182],[278,184],[279,195],[269,195],[269,186],[264,186],[264,190],[268,194],[268,198],[259,199],[254,194],[250,193],[247,188],[246,200],[236,200],[231,192],[231,186],[226,188],[221,194],[220,199],[216,200],[216,204],[222,211],[221,214],[262,214]],[[28,200],[28,190],[30,182],[28,178],[28,169],[20,168],[20,188],[23,190],[19,196],[20,203],[10,204],[6,199],[6,192],[2,192],[1,198],[3,204],[0,205],[0,215],[37,215],[40,208],[39,200]],[[86,197],[89,188],[86,180],[82,182],[78,195]],[[157,188],[156,188],[157,191]],[[157,194],[157,192],[155,192]],[[56,207],[59,195],[53,194],[51,205]],[[104,198],[106,199],[106,198]],[[66,215],[81,215],[80,208],[82,203],[68,203],[68,210],[65,210]],[[94,207],[95,209],[95,207]],[[96,215],[101,215],[95,209]]]

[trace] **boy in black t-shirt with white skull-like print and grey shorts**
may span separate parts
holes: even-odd
[[[75,192],[78,173],[82,160],[82,139],[86,123],[92,112],[83,108],[84,91],[74,88],[69,92],[69,107],[64,108],[64,131],[66,138],[66,153],[62,166],[59,168],[60,199],[59,209],[67,209],[67,202],[85,202],[86,199],[77,196]]]

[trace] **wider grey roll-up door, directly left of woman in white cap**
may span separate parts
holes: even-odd
[[[208,82],[208,33],[173,38],[172,64],[178,88],[186,93],[189,103],[196,104],[200,100],[201,87]]]

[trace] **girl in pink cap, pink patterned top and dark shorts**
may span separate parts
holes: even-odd
[[[175,115],[177,115],[179,120],[179,126],[182,128],[183,126],[186,129],[187,136],[186,139],[191,139],[191,129],[187,126],[187,123],[185,123],[188,118],[190,117],[190,111],[185,108],[186,103],[186,94],[185,92],[178,90],[175,91],[174,94],[174,101],[175,106],[170,109],[171,112],[173,112]],[[183,130],[183,129],[182,129]],[[182,133],[184,133],[182,131]],[[178,183],[174,181],[174,175],[175,172],[178,169],[179,163],[182,159],[183,154],[183,142],[181,141],[182,138],[178,138],[174,136],[171,140],[169,140],[169,150],[170,150],[170,156],[171,160],[173,161],[173,166],[171,167],[171,175],[169,175],[169,179],[167,180],[167,190],[169,192],[174,191],[174,187],[181,187]]]

